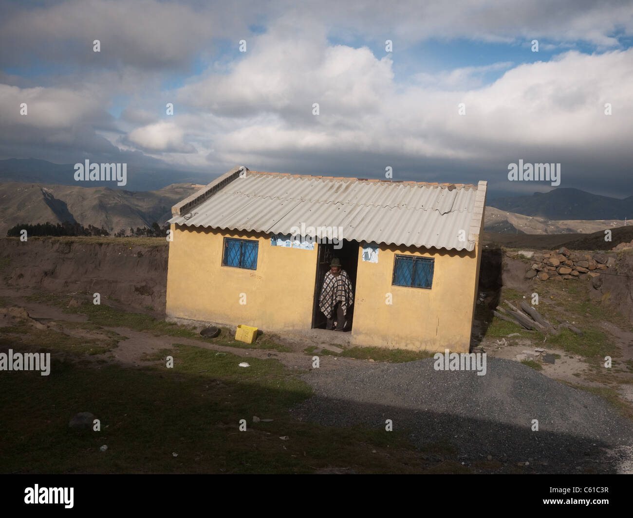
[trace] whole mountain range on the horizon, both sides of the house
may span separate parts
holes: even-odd
[[[171,217],[171,207],[211,182],[213,175],[154,171],[134,174],[126,190],[114,182],[82,182],[73,178],[73,166],[35,159],[0,160],[0,236],[22,223],[77,222],[114,233],[124,229],[161,226]],[[139,173],[137,175],[137,173]],[[136,179],[134,179],[136,177]],[[173,180],[179,180],[174,183]],[[89,187],[87,187],[89,185]],[[591,194],[575,188],[556,188],[547,193],[502,197],[486,202],[487,232],[555,235],[592,233],[626,225],[633,215],[633,196],[625,199]]]

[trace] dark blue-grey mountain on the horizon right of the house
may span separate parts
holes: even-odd
[[[572,188],[497,198],[487,200],[486,204],[510,213],[547,219],[633,219],[633,196],[619,200]]]

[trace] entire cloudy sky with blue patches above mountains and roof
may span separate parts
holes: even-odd
[[[390,166],[394,180],[487,180],[492,195],[550,190],[508,181],[522,159],[560,163],[560,187],[633,195],[630,1],[0,9],[3,159],[162,164],[209,181],[239,165],[360,178]]]

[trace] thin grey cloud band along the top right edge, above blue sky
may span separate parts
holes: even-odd
[[[404,46],[432,38],[502,43],[544,38],[614,47],[618,46],[615,34],[633,34],[633,6],[620,0],[515,0],[503,4],[485,0],[456,0],[450,4],[445,0],[406,0],[388,5],[382,0],[330,0],[308,9],[306,13],[301,7],[306,18],[339,27],[342,34],[380,34]]]

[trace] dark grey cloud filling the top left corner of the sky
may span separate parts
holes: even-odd
[[[13,11],[0,25],[0,60],[25,55],[101,67],[182,68],[211,40],[210,12],[156,0],[67,0]],[[93,41],[101,52],[93,51]]]

